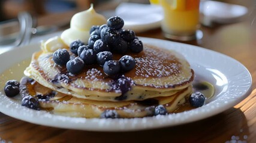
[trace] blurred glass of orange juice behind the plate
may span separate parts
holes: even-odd
[[[150,0],[159,4],[164,18],[161,29],[164,36],[178,41],[190,41],[197,38],[200,0]]]

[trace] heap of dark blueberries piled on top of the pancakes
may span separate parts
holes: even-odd
[[[143,43],[138,40],[132,30],[122,29],[124,20],[115,16],[107,20],[107,24],[92,26],[88,45],[76,40],[70,44],[70,51],[77,57],[70,59],[67,49],[58,49],[53,53],[53,61],[60,66],[67,67],[72,74],[80,73],[84,66],[98,64],[109,76],[132,70],[135,60],[128,51],[139,53],[143,50]],[[113,54],[123,54],[119,61],[113,60]]]

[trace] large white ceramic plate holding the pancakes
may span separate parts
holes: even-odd
[[[98,131],[143,130],[181,125],[205,119],[238,104],[251,91],[252,79],[249,71],[227,55],[183,43],[150,38],[140,39],[144,43],[174,49],[183,54],[195,71],[195,80],[207,80],[215,86],[215,97],[207,101],[203,107],[182,113],[168,114],[167,116],[141,119],[85,119],[57,116],[46,111],[35,111],[22,107],[19,100],[6,97],[1,90],[0,111],[26,122],[58,128]],[[39,46],[39,43],[35,43],[0,55],[0,73],[15,63],[31,58],[32,53],[39,50]],[[22,70],[20,69],[18,72],[20,75],[13,75],[13,78],[21,77],[23,75]],[[0,77],[0,82],[6,82],[4,77]]]

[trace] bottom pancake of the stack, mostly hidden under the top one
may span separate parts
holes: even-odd
[[[149,98],[144,101],[95,101],[55,92],[29,77],[22,78],[20,89],[22,98],[29,95],[38,98],[43,110],[62,116],[86,118],[101,117],[107,110],[115,110],[121,118],[153,116],[158,105],[163,105],[168,113],[172,113],[184,104],[185,98],[192,92],[191,86],[188,86],[172,96]]]

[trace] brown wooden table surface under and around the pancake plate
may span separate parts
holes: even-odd
[[[0,113],[0,142],[256,142],[256,1],[229,2],[248,7],[248,15],[237,23],[201,26],[203,38],[186,43],[226,54],[249,70],[253,81],[252,93],[236,106],[198,122],[137,132],[51,128]],[[46,17],[43,19],[47,20]],[[164,39],[161,29],[137,35]]]

